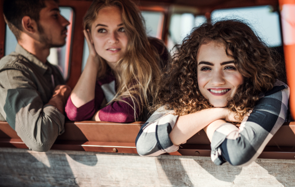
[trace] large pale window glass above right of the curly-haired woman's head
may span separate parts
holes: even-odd
[[[212,21],[224,18],[246,21],[269,47],[282,45],[279,15],[271,6],[219,9],[211,13]]]

